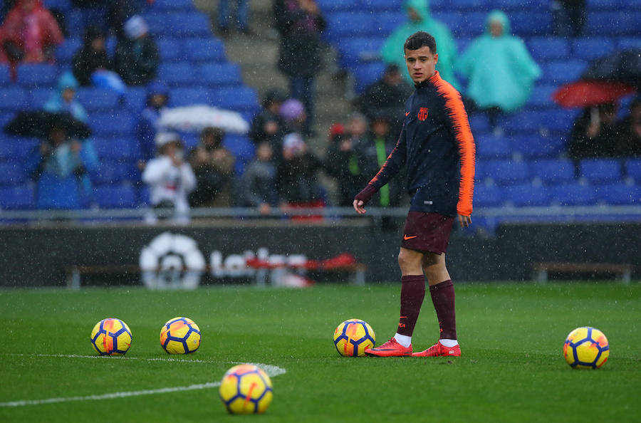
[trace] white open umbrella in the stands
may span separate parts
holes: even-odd
[[[237,134],[249,131],[249,123],[240,113],[208,105],[165,109],[160,113],[160,126],[182,131],[201,131],[206,127],[218,127]]]

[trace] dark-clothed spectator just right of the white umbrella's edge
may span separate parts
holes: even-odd
[[[273,148],[281,148],[283,136],[287,133],[287,124],[278,113],[285,101],[285,95],[280,90],[270,90],[262,103],[261,113],[251,121],[249,138],[258,145],[267,141]]]

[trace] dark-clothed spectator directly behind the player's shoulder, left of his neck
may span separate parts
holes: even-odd
[[[412,87],[402,78],[398,65],[392,64],[385,68],[382,78],[365,88],[365,93],[358,99],[358,106],[370,120],[378,115],[387,115],[392,129],[400,132],[405,100],[410,95]]]

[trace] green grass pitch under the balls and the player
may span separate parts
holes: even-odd
[[[370,323],[378,344],[389,339],[398,318],[397,284],[2,290],[2,403],[219,382],[236,362],[286,373],[272,378],[274,399],[261,416],[229,416],[213,387],[2,406],[0,422],[641,421],[641,284],[459,283],[456,289],[463,355],[429,359],[340,357],[333,346],[334,328],[348,318]],[[193,355],[170,357],[160,347],[160,327],[178,315],[200,326],[202,345]],[[107,317],[132,330],[125,359],[88,357],[95,355],[90,331]],[[573,370],[563,360],[563,340],[582,325],[603,330],[610,341],[600,370]],[[437,336],[428,293],[415,350]],[[154,358],[189,361],[148,360]]]

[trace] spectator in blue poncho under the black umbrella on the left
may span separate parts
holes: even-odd
[[[36,181],[38,209],[80,209],[93,199],[88,172],[98,167],[95,152],[54,123],[48,137],[29,155],[26,169]]]

